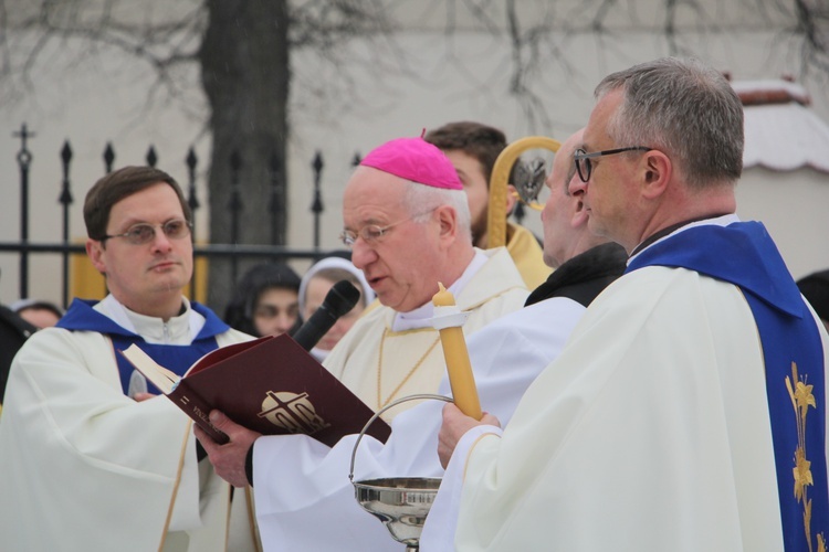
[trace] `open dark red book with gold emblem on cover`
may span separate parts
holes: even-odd
[[[209,422],[213,408],[265,435],[302,433],[328,446],[360,433],[374,415],[287,335],[216,349],[183,378],[157,364],[137,344],[120,353],[217,443],[227,443],[228,436]],[[380,418],[366,431],[382,443],[390,433]]]

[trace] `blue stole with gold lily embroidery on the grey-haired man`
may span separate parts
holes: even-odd
[[[642,251],[627,272],[651,265],[743,291],[763,344],[785,550],[817,552],[829,538],[823,350],[777,247],[757,222],[694,226]]]

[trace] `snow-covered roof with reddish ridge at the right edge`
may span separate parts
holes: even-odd
[[[829,173],[829,125],[808,108],[802,86],[787,81],[735,82],[743,100],[743,166],[794,171],[810,167]]]

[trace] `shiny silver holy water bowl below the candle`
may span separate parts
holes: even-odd
[[[418,550],[426,517],[440,487],[440,478],[386,477],[355,481],[357,502],[384,522],[391,537]]]

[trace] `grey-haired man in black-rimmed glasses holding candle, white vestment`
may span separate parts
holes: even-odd
[[[421,550],[826,550],[829,337],[762,224],[733,214],[739,99],[672,59],[597,97],[570,192],[628,273],[503,433],[444,407]]]

